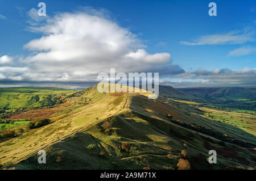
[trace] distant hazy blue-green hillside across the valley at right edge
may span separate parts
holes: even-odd
[[[252,110],[256,107],[255,87],[214,87],[177,89],[191,97],[172,98],[200,103],[219,110]],[[169,96],[171,98],[171,96]]]

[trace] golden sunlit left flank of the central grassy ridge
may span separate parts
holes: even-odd
[[[91,101],[79,110],[53,118],[52,123],[42,128],[32,129],[22,135],[0,143],[0,163],[15,163],[26,155],[34,153],[61,138],[75,133],[97,119],[119,112],[126,101],[126,95],[116,96],[100,94],[95,87],[84,93]],[[87,95],[88,94],[88,95]],[[69,102],[69,100],[67,100]],[[113,103],[113,104],[111,104]]]

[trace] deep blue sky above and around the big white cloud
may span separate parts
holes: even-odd
[[[84,7],[104,12],[105,19],[137,36],[143,44],[143,50],[148,54],[169,53],[171,60],[166,66],[177,65],[184,72],[163,76],[162,82],[166,85],[191,86],[195,81],[198,86],[229,86],[230,77],[236,77],[231,85],[243,85],[244,82],[245,85],[255,85],[255,82],[251,81],[256,74],[255,1],[54,0],[43,2],[46,3],[48,18],[64,12],[74,14]],[[217,4],[217,16],[208,15],[210,2]],[[39,1],[0,2],[0,57],[5,55],[12,57],[15,64],[11,66],[29,66],[26,65],[28,63],[19,61],[20,57],[26,59],[31,53],[38,52],[38,49],[33,52],[29,48],[24,48],[24,45],[31,40],[40,39],[45,35],[42,31],[28,30],[31,27],[31,16],[28,12],[33,8],[39,9],[38,3]],[[41,22],[36,23],[38,24],[32,26],[42,26]],[[220,40],[214,41],[216,39]],[[10,67],[1,64],[0,66]],[[214,70],[222,69],[218,76],[212,73]],[[223,74],[226,69],[231,71],[225,71]],[[167,71],[163,68],[158,70]],[[5,69],[5,74],[6,71]],[[2,73],[3,82],[12,82],[10,77],[14,76],[8,77],[5,74]],[[237,74],[246,77],[246,81]],[[227,78],[226,82],[219,80],[224,78]],[[15,81],[29,82],[28,79],[30,78],[19,78]],[[36,79],[32,81],[36,82]],[[73,79],[69,81],[72,82]],[[183,85],[181,83],[176,85],[176,81],[183,82]],[[198,81],[212,83],[203,85]]]

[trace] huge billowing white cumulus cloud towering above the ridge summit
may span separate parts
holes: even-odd
[[[30,67],[31,79],[91,81],[110,68],[127,73],[171,62],[169,53],[148,53],[136,35],[95,14],[63,13],[31,30],[43,33],[24,45],[34,52],[22,60]]]

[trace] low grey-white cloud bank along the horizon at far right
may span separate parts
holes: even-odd
[[[162,82],[162,85],[174,87],[224,87],[255,86],[256,68],[230,69],[197,69]]]

